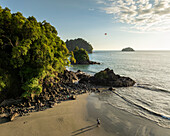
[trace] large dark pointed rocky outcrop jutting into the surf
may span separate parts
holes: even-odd
[[[109,68],[96,73],[94,76],[88,78],[82,78],[80,83],[88,82],[95,85],[102,86],[112,86],[112,87],[128,87],[133,86],[135,81],[129,77],[123,77],[120,75],[116,75],[113,70]]]

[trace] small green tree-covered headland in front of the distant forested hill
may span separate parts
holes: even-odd
[[[87,51],[83,48],[79,50],[74,50],[74,57],[76,59],[77,64],[88,64],[89,63],[89,55]]]

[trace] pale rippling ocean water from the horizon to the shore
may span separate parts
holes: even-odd
[[[74,65],[90,75],[113,69],[116,74],[136,81],[133,87],[116,88],[101,100],[121,110],[170,128],[170,51],[94,51],[90,60],[101,65]]]

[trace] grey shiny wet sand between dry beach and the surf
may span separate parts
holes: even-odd
[[[92,120],[100,118],[101,128],[107,132],[107,136],[170,136],[170,129],[113,107],[101,101],[99,95],[91,94],[88,97],[88,116]]]

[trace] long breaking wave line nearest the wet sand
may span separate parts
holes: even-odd
[[[152,111],[152,110],[149,110],[149,109],[147,109],[147,108],[145,108],[145,107],[142,107],[141,105],[138,105],[138,104],[136,104],[136,103],[134,103],[134,102],[126,99],[125,97],[121,96],[121,95],[120,95],[119,93],[117,93],[116,91],[112,91],[112,92],[113,92],[114,94],[116,94],[117,96],[119,96],[119,97],[120,97],[121,99],[123,99],[124,101],[126,101],[126,102],[128,102],[128,103],[130,103],[130,104],[132,104],[132,105],[134,105],[134,106],[136,106],[136,107],[138,107],[138,108],[141,108],[141,109],[143,109],[144,111],[147,111],[147,112],[150,113],[150,114],[153,114],[153,115],[155,115],[155,116],[158,116],[158,117],[161,117],[161,118],[170,120],[170,117],[166,117],[166,116],[164,116],[164,115],[161,115],[160,113],[156,113],[155,111]]]

